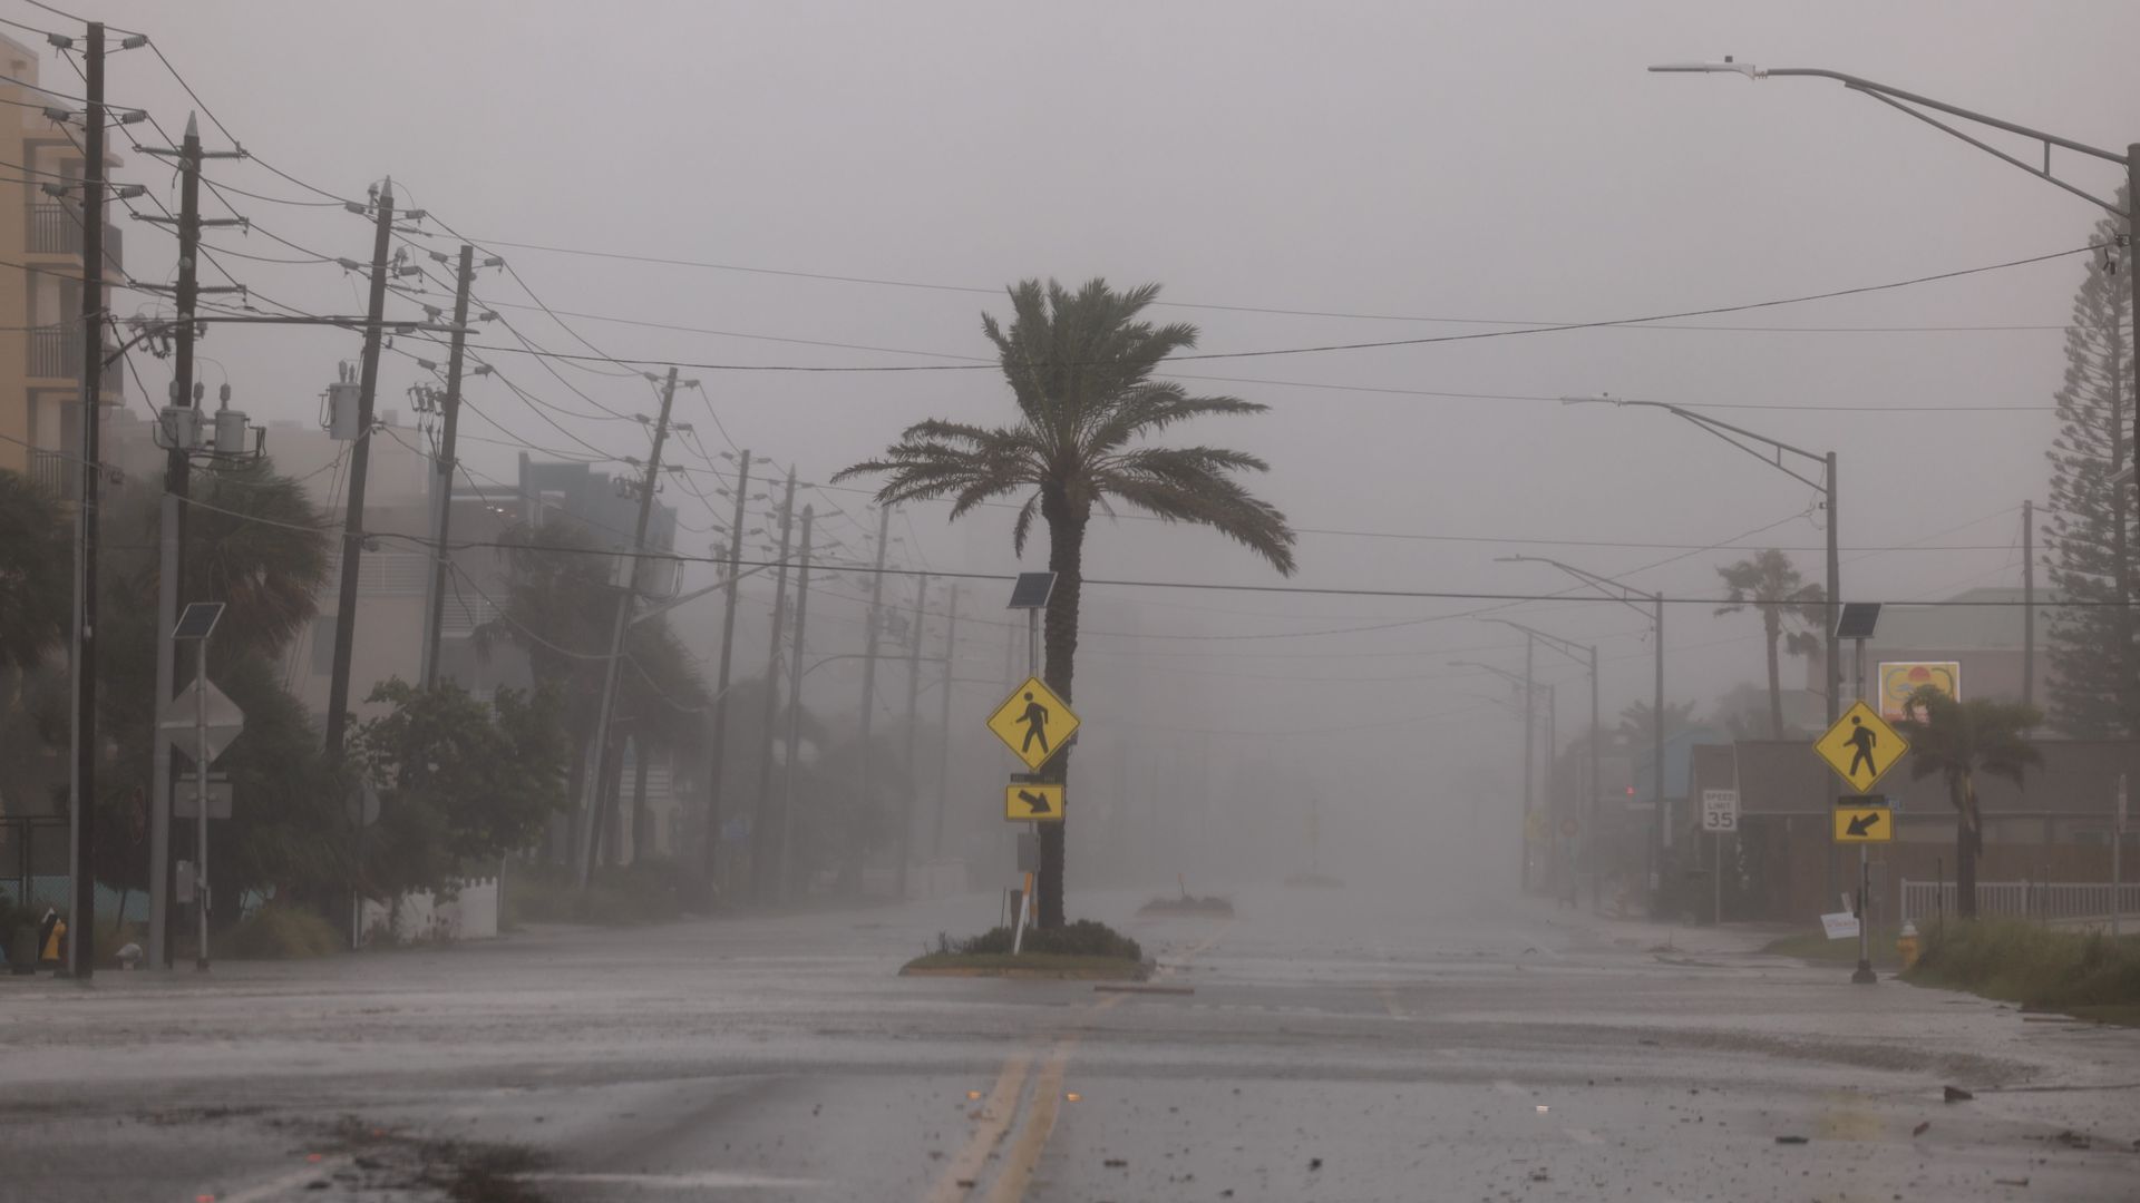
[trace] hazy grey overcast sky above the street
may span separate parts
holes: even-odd
[[[28,6],[11,13],[56,21]],[[2140,73],[2131,71],[2140,6],[2112,0],[203,0],[109,2],[101,15],[150,32],[268,165],[342,197],[362,197],[392,173],[402,203],[505,255],[548,304],[704,330],[569,319],[603,353],[696,364],[957,364],[957,355],[987,351],[978,315],[1002,313],[1002,293],[991,291],[1021,276],[1158,280],[1168,302],[1190,306],[1164,317],[1198,323],[1203,351],[1256,351],[1879,285],[2069,250],[2099,216],[1840,86],[1648,75],[1652,62],[1736,54],[1830,66],[2095,146],[2140,137]],[[51,58],[43,71],[47,81],[71,79]],[[113,56],[109,96],[152,109],[173,135],[188,109],[150,51]],[[203,131],[210,148],[227,146],[205,118]],[[122,154],[122,178],[175,203],[167,167]],[[2061,156],[2059,167],[2095,191],[2116,186],[2106,165]],[[212,176],[263,197],[319,201],[261,165],[216,165]],[[330,257],[368,253],[366,223],[334,205],[231,199],[259,229],[216,233],[218,246],[302,259],[265,238],[274,231]],[[426,244],[454,248],[445,235]],[[137,276],[165,278],[169,261],[167,235],[128,231]],[[332,263],[223,263],[278,302],[362,308],[362,278]],[[1303,529],[1601,544],[1303,533],[1297,584],[1560,589],[1564,578],[1543,565],[1494,563],[1532,552],[1605,574],[1641,569],[1631,580],[1644,589],[1714,595],[1714,565],[1731,552],[1644,565],[1738,542],[1804,548],[1798,559],[1817,576],[1813,548],[1823,535],[1813,490],[1661,411],[1569,409],[1556,398],[1611,392],[1753,407],[1712,413],[1840,454],[1847,548],[1941,546],[1847,554],[1845,595],[1943,597],[2018,582],[2018,505],[2046,492],[2048,407],[2063,366],[2057,328],[2080,272],[2082,259],[2067,257],[1669,330],[1186,364],[1196,377],[1228,377],[1196,387],[1273,411],[1179,437],[1267,456],[1271,473],[1256,488]],[[539,345],[588,349],[539,313],[507,308],[531,304],[511,278],[486,274],[479,293]],[[126,308],[143,304],[122,298]],[[398,313],[415,310],[400,304]],[[1896,330],[1926,325],[2009,330]],[[503,330],[486,330],[479,342],[514,347]],[[270,417],[312,417],[336,360],[355,351],[347,334],[302,330],[218,330],[203,342],[216,360],[210,383],[227,370],[240,402]],[[556,364],[561,381],[529,355],[486,355],[561,409],[593,413],[567,392],[569,381],[612,409],[653,411],[636,377]],[[160,390],[167,364],[141,368]],[[704,394],[687,394],[678,417],[696,424],[708,452],[751,447],[798,465],[809,482],[880,450],[914,420],[1008,415],[1006,392],[987,370],[685,372]],[[389,357],[381,407],[415,379],[409,360]],[[469,396],[496,422],[464,420],[475,437],[578,454],[586,454],[580,441],[616,456],[644,452],[633,422],[550,413],[561,432],[494,381],[473,383]],[[511,475],[505,447],[471,445],[467,458]],[[687,524],[706,522],[696,499],[670,499]],[[869,522],[858,494],[815,501],[820,509],[837,501],[854,522]],[[916,559],[1012,569],[999,516],[972,535],[946,527],[942,505],[916,505],[910,518]],[[858,548],[854,522],[835,518],[828,531]],[[687,533],[685,550],[706,542]],[[1087,569],[1278,580],[1209,533],[1128,520],[1096,524]],[[978,591],[989,610],[999,604],[993,589]],[[1132,614],[1143,631],[1205,636],[1087,640],[1096,653],[1136,653],[1147,668],[1173,664],[1205,681],[1203,704],[1109,715],[1106,700],[1094,698],[1085,702],[1094,719],[1284,732],[1447,715],[1286,741],[1301,756],[1329,756],[1333,792],[1387,788],[1421,758],[1504,743],[1507,719],[1474,698],[1485,681],[1447,659],[1449,649],[1487,649],[1466,655],[1517,666],[1507,631],[1466,619],[1389,625],[1468,606],[1089,595]],[[1641,616],[1575,604],[1532,604],[1513,616],[1601,640],[1609,709],[1648,694]],[[685,623],[702,629],[693,616]],[[1299,634],[1359,625],[1385,629]],[[1002,631],[976,640],[999,649]],[[1680,606],[1667,646],[1673,698],[1710,704],[1761,674],[1751,616],[1712,619],[1706,606]],[[1584,717],[1571,704],[1562,732]]]

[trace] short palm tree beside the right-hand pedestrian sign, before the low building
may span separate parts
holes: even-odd
[[[1920,685],[1902,700],[1900,724],[1909,738],[1909,777],[1935,773],[1947,779],[1954,803],[1954,910],[1977,916],[1977,854],[1984,852],[1984,811],[1977,809],[1977,773],[2020,786],[2022,771],[2042,764],[2044,753],[2029,743],[2044,713],[2027,702],[1971,698],[1956,702],[1937,685]],[[1920,717],[1924,715],[1924,717]]]

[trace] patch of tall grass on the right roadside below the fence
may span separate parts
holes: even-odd
[[[2131,1023],[2140,1019],[2140,935],[2112,940],[2018,918],[1941,923],[1926,929],[1924,955],[1902,978]]]

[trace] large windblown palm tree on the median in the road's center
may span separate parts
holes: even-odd
[[[1025,552],[1038,514],[1049,527],[1049,567],[1055,572],[1044,679],[1066,702],[1076,659],[1085,527],[1094,507],[1113,516],[1109,503],[1121,501],[1166,522],[1211,527],[1282,576],[1293,574],[1286,516],[1235,479],[1269,471],[1269,465],[1224,447],[1145,445],[1177,422],[1267,409],[1233,396],[1188,396],[1181,385],[1153,379],[1166,355],[1196,345],[1194,325],[1138,319],[1158,295],[1158,285],[1115,291],[1106,280],[1091,280],[1072,293],[1055,280],[1044,287],[1021,280],[1010,289],[1008,330],[995,317],[980,319],[1010,383],[1017,420],[1008,426],[920,422],[882,458],[835,477],[884,473],[877,505],[950,497],[952,518],[989,499],[1025,492],[1010,531],[1012,550]],[[1068,760],[1061,751],[1044,771],[1066,779]],[[1038,903],[1040,925],[1061,927],[1059,822],[1040,828]]]

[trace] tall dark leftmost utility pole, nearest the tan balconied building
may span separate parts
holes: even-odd
[[[103,486],[105,383],[105,26],[90,21],[88,139],[81,165],[81,486],[75,509],[75,901],[66,927],[66,972],[90,980],[96,972],[96,527]]]

